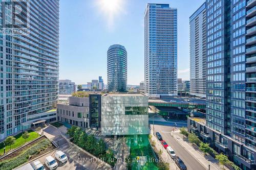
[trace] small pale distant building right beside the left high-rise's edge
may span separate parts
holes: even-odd
[[[59,94],[72,94],[76,91],[76,84],[71,80],[59,80]]]

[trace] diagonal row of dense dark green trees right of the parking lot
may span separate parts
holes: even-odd
[[[110,148],[106,147],[103,139],[97,139],[94,135],[88,135],[80,127],[74,126],[68,129],[67,135],[78,147],[102,159],[111,166],[115,166],[116,159],[114,153]]]

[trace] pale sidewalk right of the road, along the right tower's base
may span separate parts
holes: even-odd
[[[177,142],[179,142],[182,145],[182,147],[185,150],[187,150],[192,156],[194,156],[198,160],[198,162],[201,163],[206,169],[209,168],[209,165],[211,170],[222,169],[221,165],[218,163],[218,160],[212,158],[210,155],[204,156],[203,154],[199,153],[199,151],[196,151],[195,148],[193,148],[188,142],[184,141],[180,135],[180,130],[176,130],[172,132],[172,136]]]

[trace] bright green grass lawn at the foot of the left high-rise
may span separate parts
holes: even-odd
[[[26,139],[26,143],[36,139],[37,137],[39,137],[40,135],[32,130],[29,130],[29,138]],[[19,133],[16,136],[14,136],[16,138],[16,142],[14,144],[12,144],[11,149],[15,149],[18,147],[21,147],[23,144],[25,144],[25,139],[22,138],[22,134],[23,133]],[[9,152],[10,151],[10,146],[5,146],[5,152]],[[4,142],[0,143],[0,155],[4,154]]]

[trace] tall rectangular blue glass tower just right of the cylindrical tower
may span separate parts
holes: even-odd
[[[168,4],[146,6],[144,84],[148,95],[177,95],[177,9]]]

